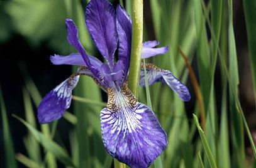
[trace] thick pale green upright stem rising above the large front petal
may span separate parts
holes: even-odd
[[[128,87],[133,95],[138,97],[138,80],[140,77],[140,62],[142,60],[143,0],[132,0],[132,8],[133,26]]]

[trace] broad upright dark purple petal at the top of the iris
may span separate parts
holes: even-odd
[[[91,0],[86,7],[86,25],[97,49],[113,65],[118,39],[112,4],[106,0]]]

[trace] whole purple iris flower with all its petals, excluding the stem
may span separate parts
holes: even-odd
[[[67,40],[78,53],[54,55],[55,65],[79,65],[79,70],[47,93],[38,107],[38,120],[48,123],[58,120],[70,107],[72,90],[79,76],[88,75],[108,93],[106,108],[101,110],[101,133],[108,153],[130,167],[148,167],[167,147],[167,135],[154,113],[138,102],[127,87],[131,53],[131,19],[120,5],[116,11],[106,0],[92,0],[86,7],[86,25],[97,50],[105,63],[86,53],[71,19],[66,19]],[[142,58],[168,51],[168,47],[154,48],[157,41],[143,43]],[[118,50],[116,52],[116,50]],[[114,61],[115,53],[118,61]],[[157,81],[167,83],[181,100],[190,99],[181,81],[168,70],[146,64],[148,85]],[[140,85],[145,86],[144,70]]]

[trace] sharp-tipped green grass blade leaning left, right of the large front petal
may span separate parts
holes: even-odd
[[[198,132],[199,132],[199,135],[200,135],[201,140],[203,142],[204,150],[205,150],[206,155],[209,159],[211,167],[212,168],[217,168],[214,157],[213,157],[213,154],[212,154],[211,149],[209,147],[209,144],[206,140],[206,136],[204,135],[204,131],[201,129],[201,126],[199,124],[198,117],[196,117],[196,115],[194,115],[194,114],[193,114],[193,117],[194,117],[194,122],[196,123],[196,127],[198,127]]]

